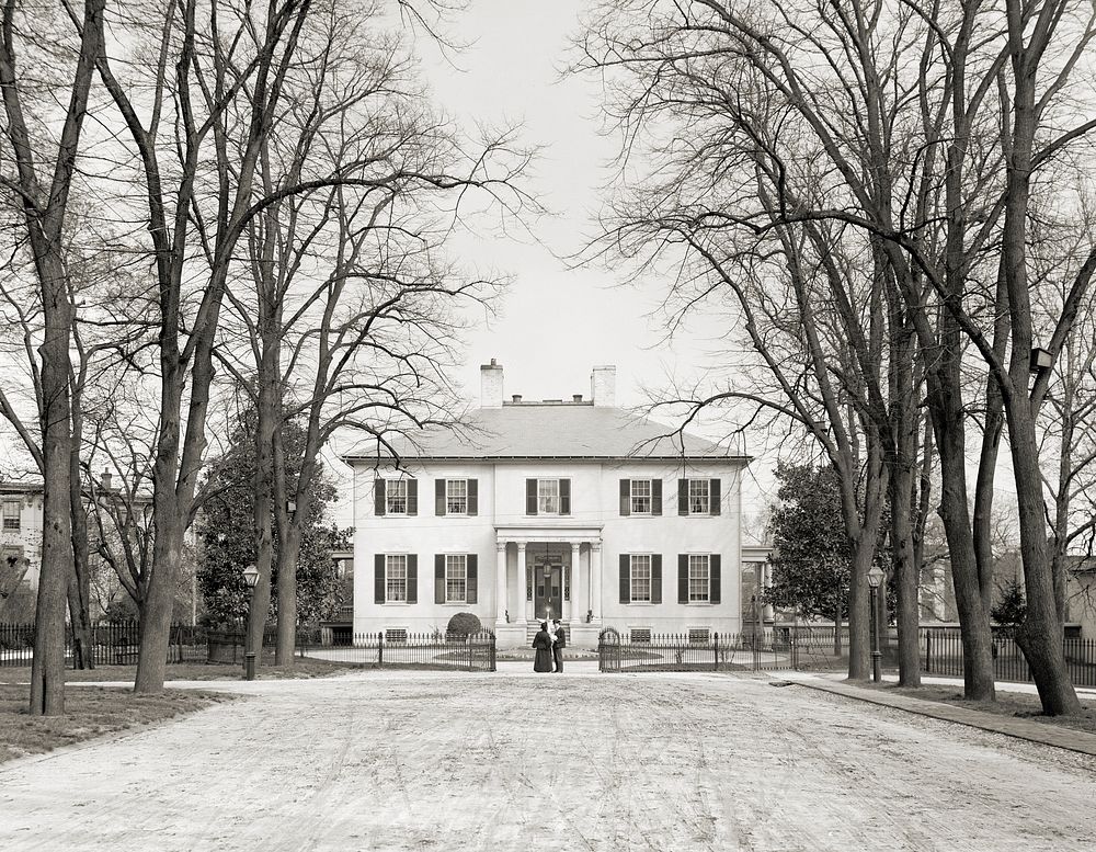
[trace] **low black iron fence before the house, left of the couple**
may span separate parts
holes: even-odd
[[[301,657],[351,662],[378,669],[458,669],[495,671],[495,637],[490,631],[470,636],[406,634],[402,631],[355,634],[349,645],[298,643]],[[301,637],[298,637],[301,638]]]

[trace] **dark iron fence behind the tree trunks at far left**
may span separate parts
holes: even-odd
[[[33,624],[0,624],[0,666],[30,666],[34,661]],[[78,666],[71,629],[65,632],[65,661]],[[95,666],[133,666],[140,647],[137,622],[100,622],[91,628],[90,661]],[[168,662],[202,662],[206,659],[206,631],[190,624],[173,624],[168,639]]]

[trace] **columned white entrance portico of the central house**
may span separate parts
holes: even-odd
[[[524,646],[545,618],[568,624],[573,643],[596,640],[602,624],[602,527],[495,527],[495,629],[503,647]]]

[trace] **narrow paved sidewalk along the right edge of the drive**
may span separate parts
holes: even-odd
[[[866,701],[870,704],[879,704],[883,707],[893,707],[916,713],[920,716],[928,716],[944,722],[954,722],[958,725],[967,725],[972,728],[1004,734],[1006,737],[1016,737],[1029,742],[1039,742],[1043,746],[1053,746],[1070,751],[1078,751],[1082,754],[1096,757],[1096,734],[1086,734],[1082,730],[1071,730],[1070,728],[1059,728],[1053,725],[1044,725],[1032,719],[1018,718],[1014,716],[998,716],[993,713],[959,707],[950,704],[943,704],[935,701],[924,701],[912,698],[907,695],[878,692],[854,686],[844,681],[834,681],[831,678],[808,674],[804,672],[784,671],[774,673],[774,678],[786,680],[808,689],[829,692],[833,695],[843,695],[846,698]],[[940,679],[944,680],[944,679]],[[951,681],[944,681],[950,683]],[[998,685],[1000,688],[1000,685]]]

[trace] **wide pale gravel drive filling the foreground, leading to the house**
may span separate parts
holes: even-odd
[[[204,684],[209,688],[209,684]],[[1096,762],[767,679],[362,672],[0,768],[9,850],[1092,850]]]

